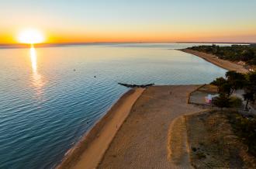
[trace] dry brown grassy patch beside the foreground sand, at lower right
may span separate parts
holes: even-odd
[[[228,115],[228,116],[227,116]],[[236,113],[210,111],[185,116],[192,166],[195,168],[255,168],[255,157],[238,136]],[[232,118],[231,118],[232,117]],[[255,140],[255,139],[254,139]]]

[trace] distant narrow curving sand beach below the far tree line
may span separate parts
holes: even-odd
[[[247,73],[248,70],[244,68],[240,64],[235,64],[234,62],[230,62],[229,60],[221,60],[214,56],[213,54],[208,54],[208,53],[202,53],[196,50],[189,50],[189,49],[184,49],[181,50],[182,52],[185,53],[191,53],[194,54],[195,56],[202,57],[202,59],[209,61],[212,64],[216,64],[218,67],[222,67],[224,69],[227,69],[228,71],[237,71],[240,73]]]

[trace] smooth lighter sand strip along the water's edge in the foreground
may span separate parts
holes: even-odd
[[[133,104],[140,98],[144,88],[134,88],[126,91],[117,102],[112,105],[106,115],[95,122],[85,136],[67,151],[57,169],[64,168],[95,168],[112,142],[119,127],[129,115]]]

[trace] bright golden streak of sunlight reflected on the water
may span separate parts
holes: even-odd
[[[30,61],[32,68],[31,82],[36,91],[36,98],[41,98],[43,95],[43,86],[45,85],[45,82],[43,81],[42,75],[38,73],[36,49],[33,46],[30,47]]]

